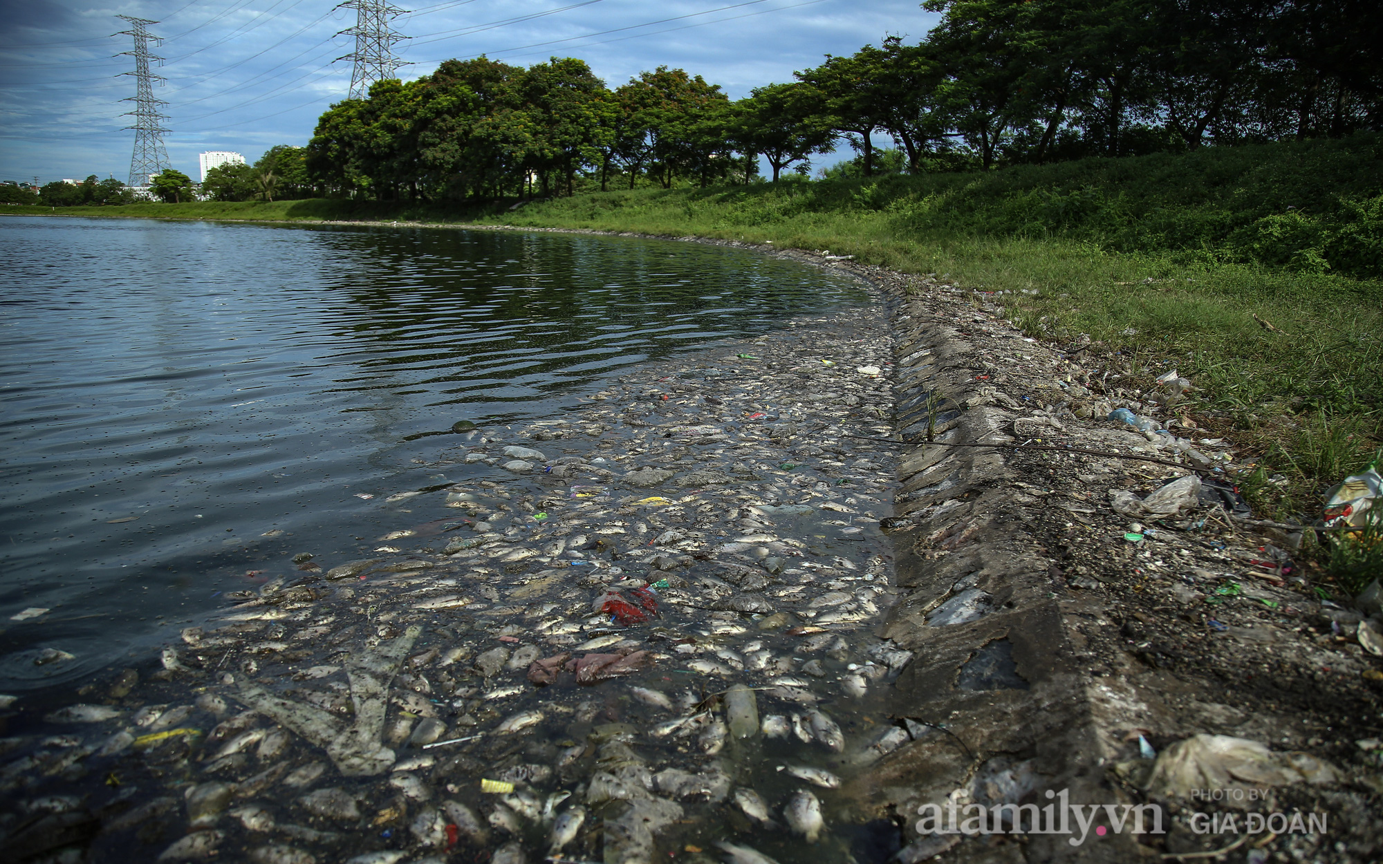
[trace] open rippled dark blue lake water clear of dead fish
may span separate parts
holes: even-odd
[[[553,234],[11,217],[0,256],[0,693],[119,665],[260,563],[360,557],[383,498],[495,470],[418,464],[456,420],[863,300],[747,252]]]

